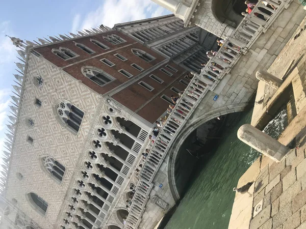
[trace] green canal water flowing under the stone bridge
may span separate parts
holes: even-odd
[[[228,227],[235,198],[233,187],[260,155],[237,138],[239,127],[250,123],[251,116],[252,110],[227,115],[222,138],[216,143],[210,158],[199,160],[187,191],[165,229]],[[284,118],[286,112],[281,112],[278,119]],[[274,120],[264,131],[275,137],[275,132],[283,129],[284,124]]]

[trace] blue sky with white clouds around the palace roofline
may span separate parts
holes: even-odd
[[[5,35],[37,40],[49,35],[76,33],[82,28],[170,14],[150,0],[16,0],[0,8],[0,155],[4,149],[10,95],[16,74],[17,47]],[[1,159],[0,159],[1,160]]]

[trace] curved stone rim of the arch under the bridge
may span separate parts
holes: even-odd
[[[197,118],[192,119],[186,126],[180,131],[180,134],[176,136],[174,142],[172,142],[171,148],[168,150],[168,161],[167,161],[167,179],[170,187],[170,192],[175,200],[179,202],[181,194],[176,186],[175,182],[175,161],[179,156],[179,151],[186,140],[186,138],[202,124],[213,120],[219,116],[224,116],[229,113],[241,112],[250,105],[250,103],[236,103],[231,105],[224,105],[216,109],[210,110],[209,112],[199,115]]]

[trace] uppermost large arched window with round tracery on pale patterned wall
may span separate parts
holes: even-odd
[[[59,121],[73,134],[77,134],[80,130],[84,112],[67,100],[61,100],[55,107]]]

